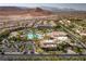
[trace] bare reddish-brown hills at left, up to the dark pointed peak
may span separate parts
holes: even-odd
[[[22,15],[22,14],[40,16],[40,15],[50,15],[52,14],[52,12],[41,8],[0,7],[0,15]]]

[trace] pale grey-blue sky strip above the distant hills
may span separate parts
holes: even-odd
[[[0,3],[0,7],[27,7],[27,8],[52,7],[60,9],[67,8],[67,9],[86,11],[86,3]]]

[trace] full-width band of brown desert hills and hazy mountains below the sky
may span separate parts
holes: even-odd
[[[26,8],[26,7],[0,7],[0,16],[13,16],[13,17],[33,17],[33,16],[48,16],[58,15],[57,18],[85,18],[86,11],[78,11],[75,9],[60,9],[52,7],[38,7],[38,8]],[[12,17],[11,17],[12,18]]]

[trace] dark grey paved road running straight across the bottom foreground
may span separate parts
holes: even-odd
[[[5,54],[0,55],[0,61],[13,61],[19,57],[34,57],[34,56],[62,56],[62,57],[69,57],[69,56],[84,56],[86,57],[86,54]]]

